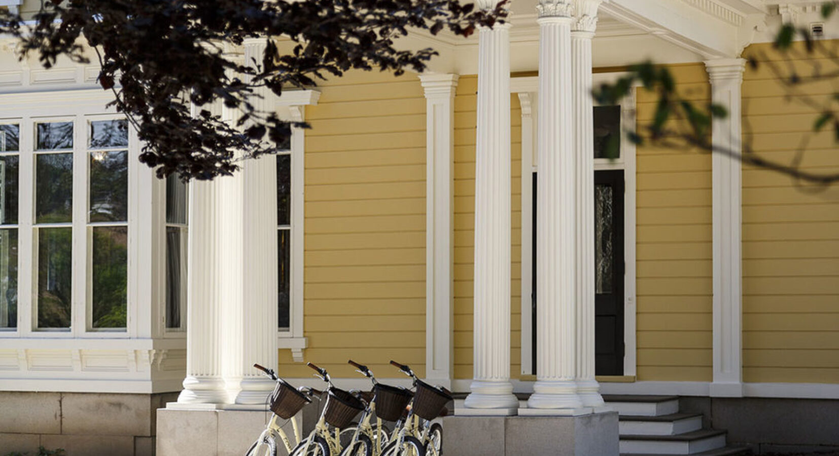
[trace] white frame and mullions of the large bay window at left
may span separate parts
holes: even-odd
[[[137,254],[138,138],[133,128],[128,129],[128,277],[126,290],[126,328],[92,329],[88,317],[91,309],[91,263],[89,211],[89,150],[88,122],[124,118],[113,108],[105,108],[112,94],[102,90],[63,92],[8,93],[0,95],[0,122],[17,123],[19,136],[18,168],[18,327],[0,331],[0,338],[21,339],[128,339],[137,336]],[[73,154],[72,221],[57,224],[72,230],[73,270],[71,274],[71,304],[69,329],[38,329],[38,238],[35,224],[35,135],[34,125],[41,122],[74,122],[73,148],[46,153]],[[122,150],[122,149],[120,149]],[[94,224],[96,225],[96,224]],[[80,273],[81,272],[81,273]]]

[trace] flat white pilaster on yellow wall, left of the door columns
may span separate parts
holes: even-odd
[[[457,75],[420,75],[425,90],[425,376],[451,388],[451,228]]]

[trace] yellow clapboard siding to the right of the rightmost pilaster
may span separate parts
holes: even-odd
[[[764,44],[744,54],[780,59]],[[795,68],[800,75],[811,75],[812,64],[836,68],[816,60],[781,63],[784,71]],[[836,87],[808,84],[799,91],[821,103]],[[839,172],[833,133],[812,133],[819,112],[796,102],[796,96],[786,99],[768,66],[746,71],[743,94],[744,141],[751,141],[755,153],[791,163],[809,138],[801,168]],[[773,171],[743,167],[743,381],[839,383],[836,184],[814,189]]]

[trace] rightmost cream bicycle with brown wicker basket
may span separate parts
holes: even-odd
[[[443,427],[432,423],[452,400],[451,391],[443,387],[430,386],[411,371],[409,365],[391,360],[414,381],[414,397],[408,406],[408,413],[393,429],[391,442],[384,448],[384,456],[440,456],[442,454]]]

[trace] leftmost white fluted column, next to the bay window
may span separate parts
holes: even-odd
[[[221,372],[221,298],[216,226],[220,187],[215,181],[193,181],[187,258],[186,378],[178,402],[221,404],[227,391]]]

